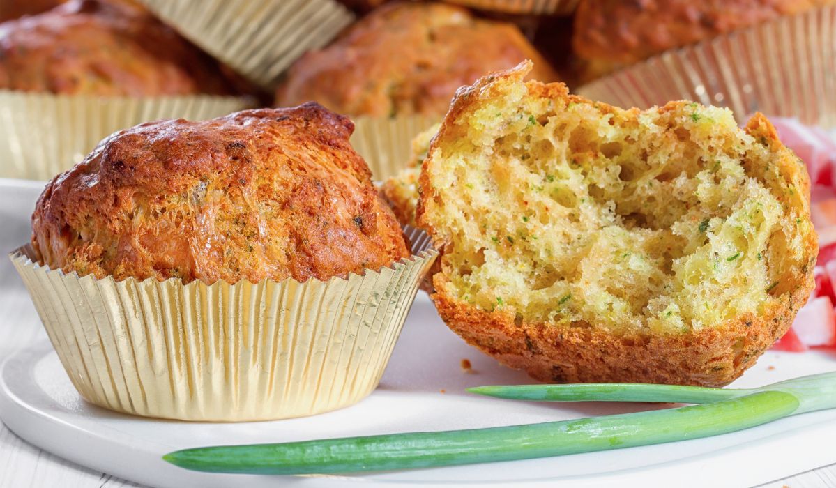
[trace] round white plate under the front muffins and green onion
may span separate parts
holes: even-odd
[[[37,190],[39,186],[36,186]],[[5,228],[28,226],[33,189],[0,188]],[[37,190],[39,191],[39,190]],[[7,196],[15,195],[15,203]],[[14,210],[12,208],[12,210]],[[28,231],[23,233],[23,240]],[[20,242],[0,243],[11,249]],[[20,239],[20,236],[13,236]],[[8,272],[10,267],[3,267]],[[20,285],[22,286],[22,285]],[[19,292],[19,291],[18,291]],[[32,304],[19,302],[15,327],[39,328]],[[2,338],[0,338],[2,340]],[[461,369],[461,359],[473,372]],[[836,370],[836,352],[767,353],[732,386],[751,387],[803,374]],[[142,419],[99,409],[79,399],[47,342],[13,353],[0,367],[0,416],[44,450],[81,465],[155,486],[336,486],[351,482],[395,485],[677,485],[742,486],[776,480],[836,462],[836,411],[782,419],[717,437],[542,460],[370,475],[275,477],[207,475],[161,460],[171,450],[198,445],[307,440],[413,430],[448,430],[576,419],[661,408],[653,404],[546,404],[487,399],[464,389],[530,380],[499,366],[451,333],[426,295],[419,294],[380,388],[348,409],[304,419],[248,424],[194,424]],[[667,405],[665,405],[667,406]]]

